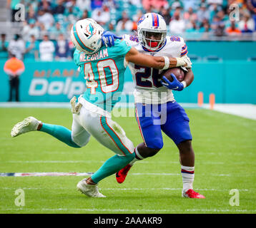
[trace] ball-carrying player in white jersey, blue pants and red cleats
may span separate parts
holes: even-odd
[[[167,26],[159,14],[144,14],[138,22],[138,36],[124,35],[130,46],[140,53],[152,56],[187,56],[187,46],[179,36],[167,36]],[[114,40],[114,39],[112,39]],[[113,44],[109,42],[111,46]],[[192,148],[192,135],[189,118],[175,100],[172,90],[181,91],[194,80],[191,65],[187,66],[184,80],[170,82],[154,68],[129,63],[135,83],[134,98],[136,118],[144,142],[137,145],[136,157],[126,167],[116,173],[117,182],[122,183],[134,162],[151,157],[163,147],[162,131],[171,138],[179,149],[179,160],[183,181],[182,197],[205,198],[193,190],[195,154]]]

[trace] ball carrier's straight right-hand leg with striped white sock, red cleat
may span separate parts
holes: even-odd
[[[203,198],[193,190],[195,178],[195,153],[192,148],[192,135],[189,128],[189,118],[178,103],[167,103],[167,121],[162,125],[164,133],[172,138],[179,148],[181,164],[183,197]]]

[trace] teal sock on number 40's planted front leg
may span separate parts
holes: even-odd
[[[105,177],[108,177],[121,170],[134,159],[134,156],[135,153],[133,152],[132,154],[126,156],[114,155],[113,157],[110,157],[109,160],[104,162],[102,167],[100,167],[99,170],[92,175],[93,182],[97,183]]]

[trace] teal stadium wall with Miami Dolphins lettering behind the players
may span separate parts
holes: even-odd
[[[9,78],[4,73],[4,61],[0,61],[0,101],[9,98]],[[67,102],[73,95],[80,95],[86,89],[84,79],[77,67],[70,62],[26,61],[21,75],[21,101]],[[204,102],[209,102],[210,93],[215,93],[216,103],[256,104],[256,75],[253,69],[256,61],[193,61],[195,81],[182,92],[174,91],[181,103],[197,103],[197,93],[204,93]],[[124,97],[122,102],[133,102],[132,75],[125,73]]]

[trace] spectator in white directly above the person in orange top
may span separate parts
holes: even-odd
[[[14,39],[10,41],[8,51],[12,55],[16,56],[16,58],[23,59],[25,53],[25,43],[19,34],[16,34]]]

